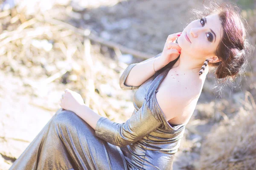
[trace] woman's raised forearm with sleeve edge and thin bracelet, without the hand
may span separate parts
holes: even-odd
[[[128,65],[120,77],[120,87],[123,90],[139,88],[140,85],[155,74],[154,70],[158,71],[165,66],[159,61],[161,54],[162,53],[157,54],[155,57],[146,59],[142,62]]]

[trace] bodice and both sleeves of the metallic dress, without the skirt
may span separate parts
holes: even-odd
[[[95,134],[120,147],[129,170],[171,170],[186,126],[169,124],[157,103],[157,88],[171,67],[160,74],[155,73],[140,86],[125,85],[125,79],[136,64],[129,65],[120,77],[122,89],[137,89],[131,118],[118,124],[102,117],[97,122]]]

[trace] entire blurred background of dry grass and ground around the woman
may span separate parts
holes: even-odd
[[[205,1],[207,5],[209,1]],[[220,1],[218,1],[220,2]],[[233,0],[256,43],[256,2]],[[47,124],[65,88],[115,122],[134,110],[119,87],[131,63],[154,57],[203,0],[0,0],[0,170]],[[174,170],[256,169],[256,61],[234,82],[207,76]],[[253,98],[254,96],[254,98]]]

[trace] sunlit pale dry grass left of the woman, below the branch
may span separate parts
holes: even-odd
[[[30,88],[29,95],[44,98],[47,86],[59,82],[81,94],[96,113],[117,122],[126,119],[124,101],[131,97],[124,97],[117,77],[127,64],[106,57],[109,51],[101,52],[101,44],[91,45],[89,30],[44,14],[25,16],[16,8],[0,12],[0,22],[4,26],[0,31],[0,71],[20,77],[24,87]],[[117,106],[120,100],[123,103]],[[57,105],[31,104],[48,111],[57,109]]]

